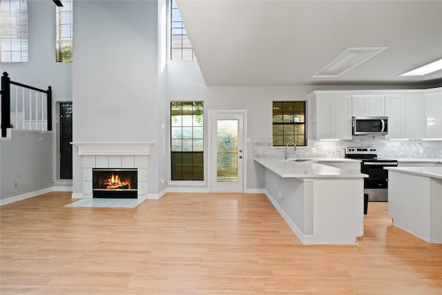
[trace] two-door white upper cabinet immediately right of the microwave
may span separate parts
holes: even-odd
[[[385,115],[388,117],[387,138],[425,138],[425,95],[386,95]]]

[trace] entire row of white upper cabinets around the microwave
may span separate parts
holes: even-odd
[[[386,139],[442,140],[442,88],[314,91],[309,94],[309,138],[351,140],[352,117],[388,117]]]

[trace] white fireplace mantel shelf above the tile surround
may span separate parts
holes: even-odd
[[[153,142],[71,142],[78,155],[150,155]]]

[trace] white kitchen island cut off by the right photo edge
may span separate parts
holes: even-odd
[[[442,167],[388,167],[393,224],[427,242],[442,243]]]

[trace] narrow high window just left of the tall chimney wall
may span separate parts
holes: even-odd
[[[55,8],[55,60],[72,62],[73,0],[63,0],[63,6]]]

